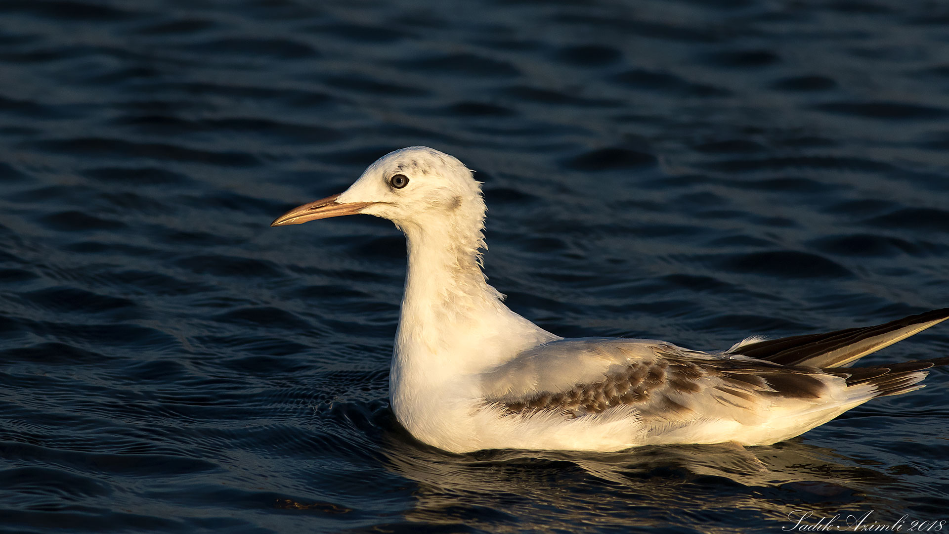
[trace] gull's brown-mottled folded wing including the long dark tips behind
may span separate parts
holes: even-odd
[[[877,396],[899,394],[920,388],[924,370],[949,365],[949,358],[872,368],[841,366],[946,319],[949,308],[878,326],[738,345],[721,355],[687,351],[662,342],[647,345],[642,340],[557,341],[498,368],[501,378],[516,380],[496,381],[493,389],[487,390],[485,400],[509,413],[549,410],[580,417],[629,407],[644,419],[681,422],[708,413],[711,406],[703,404],[743,409],[726,410],[737,419],[783,401],[821,403],[832,393],[828,388],[841,386],[834,376],[844,378],[847,386],[869,384]],[[623,346],[626,343],[628,347]],[[558,358],[568,358],[573,352],[586,354],[589,361],[616,363],[606,366],[605,372],[588,372],[580,366],[586,369],[589,381],[572,386],[544,366],[554,364],[562,371],[562,366],[555,365]],[[617,353],[625,360],[615,357]],[[542,359],[540,355],[548,357]],[[531,365],[540,369],[516,374],[533,369]],[[525,392],[512,396],[518,388]]]

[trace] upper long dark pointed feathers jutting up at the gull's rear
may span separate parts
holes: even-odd
[[[949,308],[910,315],[882,325],[755,341],[739,345],[730,353],[786,366],[842,367],[946,319],[949,319]]]

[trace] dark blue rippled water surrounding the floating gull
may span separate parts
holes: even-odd
[[[386,400],[401,236],[268,227],[425,144],[557,334],[945,307],[944,3],[3,0],[0,80],[0,531],[949,520],[944,370],[773,447],[422,446]],[[946,353],[943,325],[867,361]]]

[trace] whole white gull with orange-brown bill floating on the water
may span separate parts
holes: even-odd
[[[485,203],[462,162],[425,146],[369,165],[343,193],[271,226],[366,214],[405,234],[408,266],[389,376],[391,408],[419,441],[617,451],[646,445],[771,445],[875,397],[922,388],[949,357],[849,367],[949,318],[766,340],[719,352],[624,337],[564,338],[504,305],[482,267]]]

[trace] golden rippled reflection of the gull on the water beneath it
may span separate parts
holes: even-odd
[[[487,528],[508,522],[512,531],[652,529],[668,526],[665,516],[673,514],[678,525],[672,531],[692,524],[698,531],[742,532],[747,527],[741,518],[790,527],[788,518],[796,519],[795,510],[802,508],[815,518],[875,510],[878,521],[899,518],[902,509],[898,498],[884,497],[897,478],[800,439],[757,448],[450,455],[391,431],[381,454],[387,469],[418,484],[417,503],[406,517],[426,524]],[[487,517],[486,510],[492,511]]]

